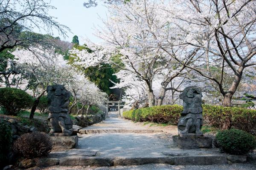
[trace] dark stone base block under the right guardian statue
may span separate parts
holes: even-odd
[[[206,136],[172,136],[178,148],[212,148],[212,138]]]

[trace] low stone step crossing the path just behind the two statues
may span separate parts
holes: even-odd
[[[145,129],[80,129],[81,134],[99,134],[99,133],[163,133],[163,130],[145,130]]]

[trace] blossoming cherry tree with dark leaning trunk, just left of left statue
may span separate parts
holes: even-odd
[[[39,48],[35,50],[39,50]],[[65,66],[63,56],[49,50],[40,50],[44,55],[37,56],[28,49],[16,49],[12,52],[17,58],[15,62],[20,68],[16,75],[12,75],[12,86],[32,92],[35,101],[32,105],[29,118],[33,118],[41,96],[46,92],[48,85],[74,82],[73,73]],[[15,77],[16,76],[16,77]]]

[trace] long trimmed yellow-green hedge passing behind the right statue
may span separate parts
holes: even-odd
[[[183,106],[164,105],[123,112],[123,117],[133,121],[153,121],[177,125]],[[240,107],[203,105],[205,124],[219,129],[231,127],[256,135],[256,110]]]

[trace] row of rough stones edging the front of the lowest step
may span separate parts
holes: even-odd
[[[19,167],[29,168],[60,166],[125,166],[141,164],[171,164],[171,165],[212,165],[245,163],[247,156],[237,155],[201,155],[201,156],[172,156],[172,157],[139,157],[139,158],[104,158],[99,156],[67,156],[63,158],[34,158],[20,161]]]

